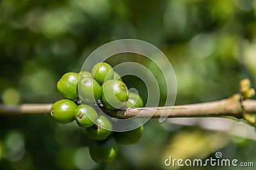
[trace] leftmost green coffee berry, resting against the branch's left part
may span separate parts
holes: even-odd
[[[61,124],[68,124],[72,122],[74,118],[74,113],[76,110],[76,104],[68,99],[62,99],[52,104],[51,116],[57,122]]]

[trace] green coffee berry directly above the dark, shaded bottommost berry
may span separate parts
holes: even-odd
[[[109,130],[107,130],[109,129]],[[104,117],[103,115],[100,115],[96,122],[95,125],[92,127],[89,127],[86,129],[86,132],[89,136],[89,138],[95,140],[95,141],[102,141],[111,134],[112,130],[112,124],[108,120],[107,117]]]

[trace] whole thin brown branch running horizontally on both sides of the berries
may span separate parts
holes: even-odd
[[[128,108],[127,110],[106,110],[106,114],[119,117],[149,117],[159,118],[167,114],[168,118],[177,117],[220,117],[231,116],[242,118],[243,113],[256,113],[256,101],[246,99],[240,101],[241,96],[236,94],[228,99],[208,103],[186,104],[180,106]],[[4,106],[0,104],[0,115],[45,115],[49,114],[52,104],[20,104],[20,106]]]

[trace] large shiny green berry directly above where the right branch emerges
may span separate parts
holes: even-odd
[[[122,108],[128,101],[128,89],[124,82],[119,80],[109,80],[103,83],[102,104],[105,108],[115,110]]]

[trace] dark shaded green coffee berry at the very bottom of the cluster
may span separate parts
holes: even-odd
[[[104,141],[92,141],[89,145],[89,153],[97,163],[110,163],[116,158],[118,143],[112,135]]]

